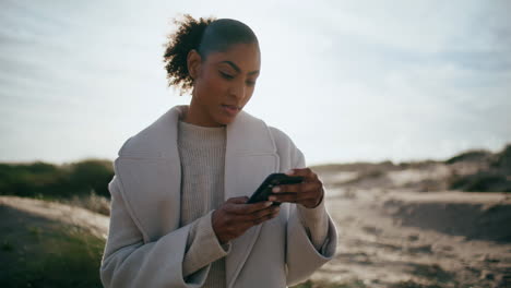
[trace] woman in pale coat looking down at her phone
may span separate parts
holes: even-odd
[[[258,39],[235,20],[187,15],[178,24],[166,70],[192,99],[119,151],[102,281],[152,288],[302,281],[334,255],[336,230],[302,153],[242,110],[260,73]],[[286,171],[306,181],[275,188],[270,200],[280,207],[245,203],[268,175]]]

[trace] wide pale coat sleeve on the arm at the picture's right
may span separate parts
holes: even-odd
[[[298,148],[293,147],[292,158],[294,168],[306,167],[304,154]],[[328,212],[328,235],[320,251],[312,244],[298,213],[297,206],[292,204],[286,228],[287,285],[289,286],[309,278],[316,269],[334,256],[337,247],[337,231]]]

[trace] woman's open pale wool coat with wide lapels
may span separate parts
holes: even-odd
[[[190,226],[179,227],[180,159],[177,129],[188,106],[175,106],[130,137],[114,163],[110,228],[102,261],[105,287],[200,287],[211,264],[182,277]],[[282,131],[240,111],[226,127],[225,200],[250,196],[272,172],[304,168],[302,153]],[[296,204],[231,241],[226,283],[238,287],[287,287],[307,279],[331,260],[337,243],[329,233],[320,252],[304,228]],[[204,248],[207,249],[207,248]]]

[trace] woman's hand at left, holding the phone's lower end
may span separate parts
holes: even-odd
[[[213,212],[213,230],[222,244],[240,237],[250,227],[278,215],[280,207],[272,206],[273,202],[246,204],[247,200],[247,196],[228,199]]]

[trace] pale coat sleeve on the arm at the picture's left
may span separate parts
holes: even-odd
[[[154,242],[143,236],[130,216],[115,176],[109,183],[111,194],[110,227],[100,266],[104,287],[201,287],[211,265],[186,279],[182,261],[189,231],[195,221],[180,227]]]

